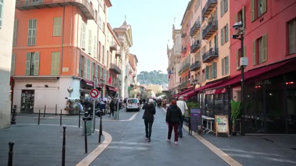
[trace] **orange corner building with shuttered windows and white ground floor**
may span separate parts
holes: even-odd
[[[85,99],[93,87],[100,97],[115,95],[120,44],[108,26],[109,7],[110,0],[16,1],[12,77],[18,112],[36,113],[46,104],[46,113],[67,114],[65,98]]]

